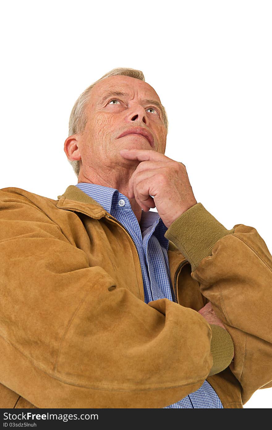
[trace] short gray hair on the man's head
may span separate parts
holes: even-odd
[[[87,123],[87,114],[86,114],[86,106],[88,101],[90,100],[90,92],[91,89],[96,85],[96,83],[100,82],[102,79],[108,78],[110,76],[115,75],[124,75],[124,76],[130,76],[132,78],[140,79],[142,81],[145,81],[145,77],[143,73],[140,70],[130,69],[130,68],[124,68],[124,67],[118,67],[115,69],[112,69],[110,72],[106,73],[102,78],[97,80],[96,82],[92,83],[88,88],[83,91],[82,94],[78,97],[77,101],[74,104],[74,107],[71,111],[70,118],[69,118],[69,136],[77,133],[83,133],[86,123]],[[164,125],[166,127],[166,131],[168,133],[168,120],[167,120],[167,113],[164,108],[163,109],[163,121]],[[74,172],[78,178],[79,175],[79,160],[68,160],[71,166],[74,169]]]

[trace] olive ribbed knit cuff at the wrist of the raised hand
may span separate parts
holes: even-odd
[[[216,242],[234,230],[227,230],[202,203],[197,203],[170,225],[164,237],[173,242],[189,261],[193,272],[203,258],[212,255]]]

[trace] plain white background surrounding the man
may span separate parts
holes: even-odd
[[[196,200],[228,229],[255,227],[271,252],[271,5],[6,2],[0,188],[57,199],[77,184],[63,151],[74,102],[111,69],[135,68],[166,108],[165,155],[185,164]],[[244,405],[271,407],[272,388]]]

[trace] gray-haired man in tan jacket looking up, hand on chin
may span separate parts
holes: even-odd
[[[113,69],[71,112],[78,183],[0,190],[2,408],[242,408],[272,387],[271,254],[196,201],[167,127],[142,72]]]

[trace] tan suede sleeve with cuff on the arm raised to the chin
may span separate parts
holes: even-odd
[[[201,203],[165,233],[188,259],[191,276],[212,303],[234,343],[229,365],[241,384],[243,404],[272,386],[272,256],[257,230],[227,230]]]

